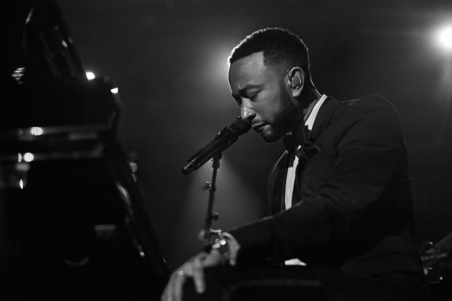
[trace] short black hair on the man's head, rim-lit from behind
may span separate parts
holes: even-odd
[[[311,79],[307,44],[290,30],[282,27],[266,27],[247,35],[232,49],[230,64],[256,52],[263,51],[263,62],[272,68],[299,66]]]

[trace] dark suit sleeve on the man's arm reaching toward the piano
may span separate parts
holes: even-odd
[[[376,231],[376,221],[398,212],[395,191],[408,166],[398,115],[386,101],[353,106],[328,141],[334,159],[316,188],[287,211],[229,231],[242,246],[239,263],[309,259],[328,245],[351,242],[354,233]]]

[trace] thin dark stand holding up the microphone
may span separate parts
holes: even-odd
[[[210,237],[212,234],[218,234],[220,233],[220,230],[214,230],[210,228],[212,226],[213,220],[218,220],[218,213],[213,213],[213,199],[215,199],[215,190],[216,185],[215,182],[217,180],[217,171],[220,167],[220,159],[221,159],[222,153],[219,152],[218,154],[213,155],[213,173],[212,173],[212,181],[209,183],[206,181],[206,185],[204,185],[204,189],[209,190],[209,199],[208,199],[208,206],[207,206],[207,213],[206,213],[206,221],[204,223],[204,251],[208,252],[210,250]]]

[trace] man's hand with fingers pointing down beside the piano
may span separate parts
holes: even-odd
[[[201,252],[191,257],[188,262],[182,264],[179,269],[171,274],[162,293],[162,301],[182,301],[182,289],[187,277],[193,278],[196,292],[204,293],[206,290],[204,269],[220,264],[221,256],[216,250],[212,250],[210,253]]]

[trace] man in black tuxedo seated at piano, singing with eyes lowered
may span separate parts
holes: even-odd
[[[319,93],[306,45],[283,28],[253,32],[229,60],[242,120],[287,147],[270,174],[273,215],[219,235],[172,274],[162,300],[196,298],[186,279],[203,300],[263,288],[273,300],[429,300],[393,106]]]

